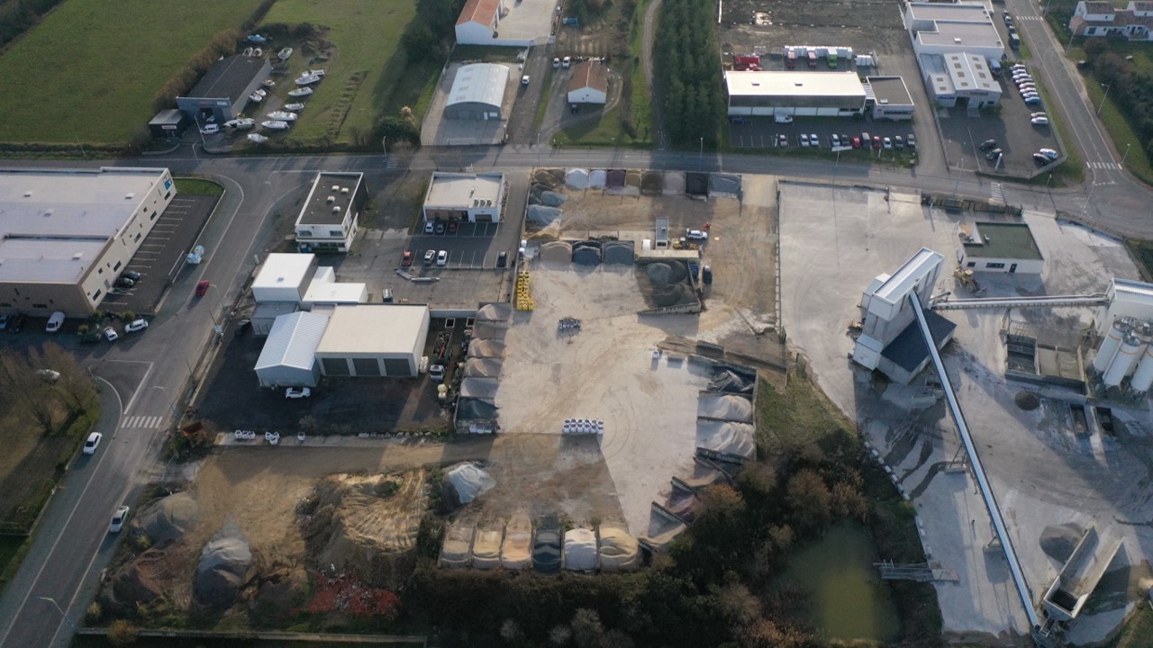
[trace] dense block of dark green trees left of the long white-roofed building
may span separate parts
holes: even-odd
[[[713,148],[725,112],[717,53],[716,3],[665,0],[661,5],[653,67],[664,129],[675,145]]]

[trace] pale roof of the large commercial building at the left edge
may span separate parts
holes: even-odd
[[[166,168],[0,171],[0,281],[78,281]]]

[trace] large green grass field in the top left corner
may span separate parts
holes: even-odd
[[[0,142],[129,141],[161,86],[259,1],[62,2],[0,54]]]

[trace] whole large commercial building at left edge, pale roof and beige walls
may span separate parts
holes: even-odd
[[[175,195],[167,168],[0,169],[0,312],[90,314]]]

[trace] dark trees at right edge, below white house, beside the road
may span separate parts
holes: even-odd
[[[1108,38],[1087,39],[1087,67],[1100,83],[1109,86],[1109,97],[1140,140],[1141,151],[1153,155],[1153,73],[1117,54],[1111,45]]]

